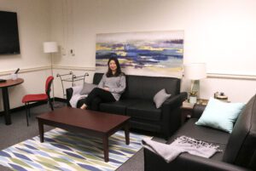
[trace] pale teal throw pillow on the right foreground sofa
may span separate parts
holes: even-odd
[[[211,98],[196,125],[217,128],[231,133],[243,103],[227,103]]]

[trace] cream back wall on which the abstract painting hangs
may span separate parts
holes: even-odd
[[[206,62],[207,73],[256,76],[254,0],[58,0],[52,3],[53,11],[64,14],[52,16],[53,37],[60,40],[65,52],[75,50],[74,56],[67,53],[55,58],[55,65],[94,67],[96,33],[184,30],[184,63]],[[60,30],[61,25],[66,26],[65,31]],[[62,42],[61,35],[65,35]],[[247,80],[218,76],[201,81],[201,98],[208,99],[218,91],[227,94],[231,101],[246,102],[255,93],[255,77]],[[182,90],[188,91],[189,83],[183,80]]]

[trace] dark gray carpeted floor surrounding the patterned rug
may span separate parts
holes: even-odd
[[[12,113],[12,124],[5,125],[4,117],[0,117],[0,150],[3,150],[11,145],[15,145],[21,141],[30,139],[38,135],[38,122],[36,116],[49,111],[48,105],[40,105],[32,108],[32,117],[30,118],[30,126],[26,127],[25,111]],[[45,126],[44,130],[49,131],[53,128]],[[163,140],[158,140],[163,141]],[[143,166],[143,149],[138,151],[133,157],[126,161],[117,171],[142,171]],[[9,168],[4,168],[0,165],[1,171],[9,171]]]

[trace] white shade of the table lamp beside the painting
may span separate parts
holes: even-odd
[[[207,67],[204,63],[184,64],[184,77],[190,80],[200,80],[207,77]]]

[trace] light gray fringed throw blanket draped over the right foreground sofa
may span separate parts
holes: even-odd
[[[189,154],[200,157],[212,157],[218,150],[218,145],[208,144],[201,140],[195,140],[187,136],[178,137],[170,145],[156,142],[150,139],[143,139],[143,146],[150,151],[163,157],[166,162],[172,162],[179,154],[189,152]]]

